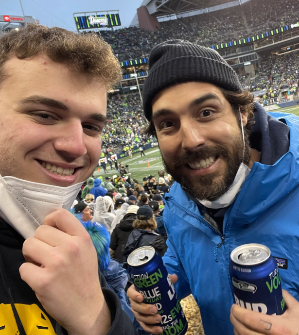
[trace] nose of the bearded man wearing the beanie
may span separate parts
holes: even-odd
[[[197,150],[206,143],[206,139],[203,136],[197,121],[181,122],[180,136],[182,149],[186,151]]]

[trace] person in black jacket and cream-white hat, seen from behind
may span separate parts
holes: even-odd
[[[111,234],[110,255],[111,257],[119,260],[121,263],[123,263],[123,251],[125,244],[134,229],[133,222],[137,218],[136,214],[138,209],[139,207],[136,205],[129,206],[126,215],[120,223],[116,225]]]

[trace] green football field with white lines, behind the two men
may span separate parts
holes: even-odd
[[[299,108],[297,108],[297,106],[276,109],[273,110],[273,112],[293,113],[299,116]],[[145,157],[141,157],[140,153],[138,152],[133,155],[132,159],[126,157],[120,159],[118,163],[122,163],[123,165],[128,164],[129,172],[131,172],[131,177],[137,179],[141,184],[142,178],[145,176],[148,177],[150,174],[156,175],[156,179],[158,179],[158,170],[164,169],[158,147],[145,151]],[[150,165],[149,167],[148,164]],[[112,166],[114,168],[114,165]],[[103,173],[104,171],[102,167],[100,167],[100,173],[96,169],[94,175],[96,177],[102,176],[104,179],[106,176],[112,177],[114,174],[119,174],[115,171],[115,169],[111,170],[108,164],[106,168],[109,173]]]

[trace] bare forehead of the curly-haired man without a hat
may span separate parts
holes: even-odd
[[[10,57],[4,63],[3,81],[0,91],[13,86],[14,99],[18,101],[39,96],[62,101],[70,107],[84,104],[106,110],[103,78],[76,73],[67,64],[54,62],[43,54],[28,59]]]

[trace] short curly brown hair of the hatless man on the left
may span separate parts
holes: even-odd
[[[9,57],[25,59],[40,53],[54,62],[67,64],[72,71],[102,77],[107,90],[122,79],[120,64],[102,37],[35,23],[0,37],[0,79],[3,77],[3,64]]]

